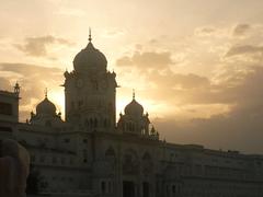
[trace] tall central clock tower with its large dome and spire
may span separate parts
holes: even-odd
[[[87,130],[115,127],[116,74],[106,70],[105,56],[91,43],[73,59],[65,76],[66,121]]]

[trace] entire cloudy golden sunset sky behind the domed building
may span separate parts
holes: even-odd
[[[263,1],[0,1],[0,88],[22,85],[21,120],[88,44],[117,73],[117,114],[136,100],[161,138],[263,153]]]

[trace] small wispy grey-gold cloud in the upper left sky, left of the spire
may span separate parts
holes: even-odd
[[[27,37],[25,38],[25,43],[23,45],[15,44],[14,46],[28,56],[42,57],[48,54],[47,46],[50,44],[60,44],[67,46],[72,45],[72,43],[67,39],[46,35],[41,37]]]

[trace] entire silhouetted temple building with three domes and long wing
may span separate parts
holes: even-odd
[[[16,139],[30,151],[42,194],[263,196],[262,155],[160,140],[135,93],[116,120],[116,74],[91,35],[64,76],[65,120],[46,93],[30,119],[19,123],[19,84],[0,91],[0,138]]]

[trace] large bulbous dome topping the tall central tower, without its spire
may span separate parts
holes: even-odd
[[[88,46],[76,55],[73,68],[77,72],[87,72],[90,70],[106,70],[106,57],[90,42]]]

